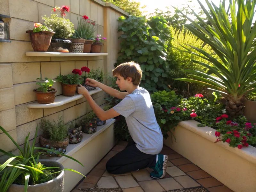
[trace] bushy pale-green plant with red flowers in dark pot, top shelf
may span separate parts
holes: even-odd
[[[51,18],[43,16],[44,24],[46,27],[51,28],[55,31],[52,37],[51,45],[48,49],[50,52],[70,52],[71,41],[68,40],[69,37],[75,32],[74,24],[70,20],[65,19],[65,12],[69,12],[69,7],[63,5],[60,7],[52,8],[53,12],[59,11],[61,17],[57,14],[52,14]]]

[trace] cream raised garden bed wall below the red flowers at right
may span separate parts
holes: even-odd
[[[186,157],[234,192],[256,191],[256,148],[232,148],[217,142],[215,129],[197,127],[194,120],[180,122],[164,144]]]

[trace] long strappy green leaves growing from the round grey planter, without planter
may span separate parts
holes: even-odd
[[[57,154],[60,154],[62,156],[68,157],[69,159],[72,159],[76,161],[77,163],[81,164],[79,161],[74,159],[73,157],[67,156],[63,153],[60,153],[58,151],[54,151],[52,149],[47,148],[41,148],[41,147],[35,147],[36,145],[36,137],[37,137],[37,127],[36,127],[36,134],[33,139],[33,143],[30,146],[30,142],[28,140],[30,133],[28,133],[28,136],[25,138],[24,148],[21,148],[16,141],[9,135],[6,130],[0,126],[0,130],[4,132],[15,144],[15,146],[18,148],[20,155],[15,156],[12,153],[6,152],[2,149],[0,149],[0,152],[4,153],[7,156],[10,156],[8,160],[5,161],[4,164],[0,164],[0,191],[6,192],[10,185],[12,183],[15,183],[17,178],[23,178],[24,179],[24,192],[28,191],[28,185],[34,185],[43,183],[45,181],[49,180],[49,175],[54,175],[54,178],[57,177],[58,173],[60,173],[63,170],[69,170],[76,173],[79,173],[73,169],[63,169],[60,171],[54,171],[55,169],[60,169],[59,167],[46,167],[42,165],[38,159],[39,155],[42,152],[37,152],[34,154],[35,150],[46,150],[46,151],[52,151]],[[81,164],[84,166],[83,164]],[[45,172],[48,170],[47,172]],[[52,171],[50,171],[52,170]],[[81,173],[79,173],[81,174]],[[83,174],[81,174],[83,175]],[[83,175],[84,176],[84,175]],[[84,176],[85,177],[85,176]],[[18,181],[17,181],[18,182]]]

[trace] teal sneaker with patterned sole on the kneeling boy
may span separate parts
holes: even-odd
[[[154,179],[164,178],[166,173],[167,162],[168,162],[167,155],[158,154],[158,161],[156,162],[155,167],[150,167],[154,170],[150,173],[150,177]]]

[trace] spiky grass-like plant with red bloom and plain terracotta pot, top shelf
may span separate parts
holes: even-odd
[[[78,20],[78,26],[77,30],[73,34],[72,38],[78,38],[78,39],[85,39],[84,41],[84,53],[89,53],[91,51],[93,39],[94,39],[94,32],[96,31],[95,22],[90,21],[89,17],[84,15],[83,17],[80,17],[80,20]]]

